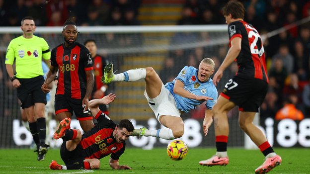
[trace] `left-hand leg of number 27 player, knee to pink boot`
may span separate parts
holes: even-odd
[[[230,111],[235,104],[223,96],[219,96],[217,103],[212,108],[214,117],[215,141],[217,152],[212,158],[200,161],[200,165],[204,166],[226,166],[229,163],[227,155],[227,140],[229,135],[229,124],[227,112]]]

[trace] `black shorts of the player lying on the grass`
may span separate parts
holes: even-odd
[[[78,144],[76,149],[70,152],[66,148],[66,142],[67,141],[64,141],[62,146],[60,147],[60,157],[65,162],[66,166],[83,161],[85,158],[81,156],[81,152],[83,150],[82,146]]]

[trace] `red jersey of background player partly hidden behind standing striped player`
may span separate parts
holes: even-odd
[[[93,57],[93,65],[94,65],[94,76],[95,76],[95,84],[94,88],[91,93],[91,98],[93,98],[93,94],[95,91],[99,90],[103,84],[101,83],[101,77],[103,76],[104,67],[107,65],[107,60],[99,55],[96,55]],[[104,94],[101,96],[101,98],[104,97]]]

